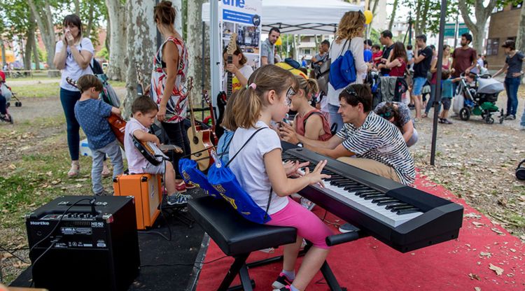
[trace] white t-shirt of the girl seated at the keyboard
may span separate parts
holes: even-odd
[[[269,198],[268,173],[265,168],[264,155],[276,148],[281,148],[281,141],[274,130],[269,129],[265,122],[258,121],[255,127],[267,127],[255,134],[251,141],[239,152],[239,155],[230,163],[230,169],[235,174],[242,188],[251,196],[253,201],[266,211]],[[239,128],[235,131],[230,143],[230,159],[246,143],[250,136],[257,130]],[[272,201],[269,205],[268,214],[272,215],[288,205],[287,197],[279,197],[272,192]]]

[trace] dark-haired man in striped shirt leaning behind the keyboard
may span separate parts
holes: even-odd
[[[395,125],[372,111],[372,92],[368,85],[349,85],[339,94],[344,127],[328,141],[306,139],[283,125],[285,141],[339,159],[370,173],[412,185],[416,172],[414,159]]]

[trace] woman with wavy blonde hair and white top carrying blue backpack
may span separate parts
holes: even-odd
[[[353,54],[353,61],[356,65],[356,82],[353,84],[362,84],[363,75],[365,75],[368,66],[363,57],[364,43],[363,31],[365,29],[365,15],[360,11],[349,11],[344,13],[339,26],[335,41],[330,45],[330,59],[332,62],[344,55],[346,50],[351,50]],[[346,44],[345,44],[346,43]],[[350,84],[349,84],[350,85]],[[343,128],[343,120],[339,111],[339,94],[344,88],[335,90],[330,83],[328,83],[328,111],[330,111],[330,127],[337,124],[337,131]]]

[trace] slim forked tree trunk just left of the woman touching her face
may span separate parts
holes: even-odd
[[[36,8],[34,0],[28,0],[28,3],[35,15],[36,23],[38,24],[42,41],[45,45],[45,50],[48,52],[48,68],[56,69],[55,64],[53,64],[53,59],[55,58],[55,27],[52,23],[52,13],[49,1],[45,0],[43,8]],[[59,76],[59,72],[48,72],[48,76]]]

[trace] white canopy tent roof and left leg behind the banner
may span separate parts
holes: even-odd
[[[202,21],[210,21],[211,76],[219,76],[218,1],[202,4]],[[277,27],[281,34],[334,34],[337,24],[347,11],[363,11],[357,6],[340,0],[262,0],[262,31]],[[214,49],[216,48],[216,49]],[[220,91],[219,78],[211,78],[211,96]],[[215,104],[215,98],[212,99]]]

